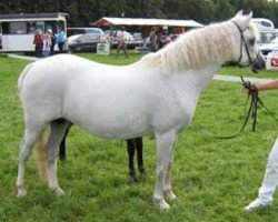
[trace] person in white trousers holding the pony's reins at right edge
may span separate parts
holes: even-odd
[[[258,91],[278,89],[278,80],[255,84]],[[252,211],[258,208],[266,208],[272,203],[274,193],[278,184],[278,138],[268,155],[267,168],[258,198],[248,204],[245,210]]]

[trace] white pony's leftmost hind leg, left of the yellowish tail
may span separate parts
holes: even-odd
[[[24,174],[26,174],[26,162],[31,154],[31,148],[39,140],[43,131],[43,127],[41,128],[30,128],[26,127],[24,137],[20,143],[19,149],[19,163],[18,163],[18,179],[17,179],[17,188],[18,188],[18,198],[21,198],[27,194],[24,188]]]

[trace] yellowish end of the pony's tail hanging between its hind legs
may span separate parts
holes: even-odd
[[[48,133],[44,131],[41,133],[39,140],[37,141],[34,145],[34,154],[37,159],[37,167],[39,170],[39,174],[42,181],[48,181],[48,174],[47,174],[47,135]]]

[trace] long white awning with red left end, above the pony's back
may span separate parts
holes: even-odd
[[[200,28],[203,24],[193,20],[171,20],[171,19],[133,19],[133,18],[109,18],[103,17],[96,21],[97,26],[169,26]]]

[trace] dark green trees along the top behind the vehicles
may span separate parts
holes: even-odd
[[[256,18],[278,26],[278,2],[272,0],[28,0],[0,1],[1,13],[62,11],[69,26],[89,26],[101,17],[195,19],[210,23],[231,18],[237,11],[254,11]]]

